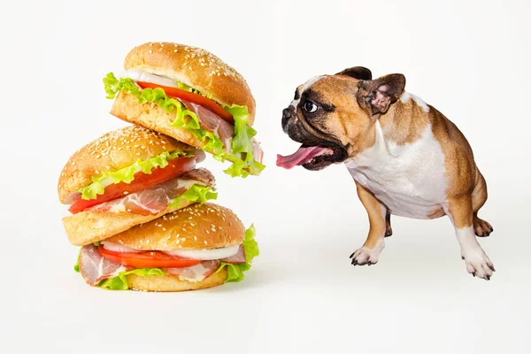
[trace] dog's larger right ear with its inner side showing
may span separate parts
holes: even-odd
[[[370,108],[372,114],[385,113],[405,88],[405,76],[391,73],[376,80],[358,82],[358,104]]]

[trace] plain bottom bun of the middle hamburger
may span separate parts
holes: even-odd
[[[78,212],[63,218],[63,226],[70,243],[74,246],[84,246],[124,232],[135,225],[158,219],[168,212],[175,212],[189,204],[189,201],[183,199],[181,205],[166,209],[157,215],[140,215],[132,212]]]

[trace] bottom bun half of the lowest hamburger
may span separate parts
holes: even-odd
[[[219,273],[212,274],[204,281],[181,281],[176,276],[163,275],[150,277],[142,277],[136,274],[127,275],[127,283],[129,289],[140,291],[186,291],[217,287],[227,280],[227,267],[223,268]]]

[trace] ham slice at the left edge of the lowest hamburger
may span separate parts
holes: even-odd
[[[125,270],[125,266],[103,258],[94,244],[81,247],[80,273],[89,285],[95,286],[98,282],[115,277]]]

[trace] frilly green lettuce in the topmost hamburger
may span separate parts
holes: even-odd
[[[212,95],[204,95],[182,82],[176,82],[180,89],[185,89],[189,92],[212,98]],[[175,98],[166,96],[164,89],[139,89],[131,79],[117,79],[113,73],[107,73],[104,77],[104,86],[107,98],[114,98],[119,91],[124,91],[127,94],[135,96],[138,99],[139,104],[150,102],[157,104],[166,112],[174,111],[176,117],[173,119],[171,125],[173,127],[188,130],[197,140],[204,142],[202,149],[212,153],[213,157],[218,161],[231,161],[233,164],[224,171],[231,177],[245,178],[249,174],[258,174],[266,168],[266,165],[260,164],[256,161],[252,154],[251,138],[256,135],[257,132],[250,127],[248,123],[249,111],[246,106],[237,104],[233,104],[232,106],[222,106],[227,112],[230,112],[235,119],[235,135],[231,140],[232,153],[228,154],[219,137],[199,125],[199,119],[197,119],[196,113],[187,110],[186,107]]]

